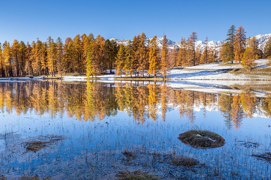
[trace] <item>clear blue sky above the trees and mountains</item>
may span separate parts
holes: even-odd
[[[76,34],[132,39],[145,32],[173,41],[192,31],[223,40],[227,29],[243,25],[247,36],[271,33],[270,1],[1,1],[0,42],[45,41]]]

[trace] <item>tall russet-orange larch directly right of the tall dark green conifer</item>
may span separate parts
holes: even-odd
[[[235,62],[241,62],[243,54],[246,50],[246,32],[243,26],[239,26],[236,30],[235,39],[234,39],[234,59]]]

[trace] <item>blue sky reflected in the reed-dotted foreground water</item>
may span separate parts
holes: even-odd
[[[81,108],[84,108],[84,105]],[[186,115],[180,118],[178,108],[170,107],[166,112],[165,121],[162,120],[161,113],[157,113],[156,121],[146,118],[142,124],[134,121],[133,115],[128,116],[127,112],[118,112],[115,116],[105,116],[101,121],[95,118],[91,122],[79,121],[75,116],[67,116],[66,112],[60,118],[59,112],[53,117],[50,113],[35,114],[34,110],[31,112],[28,110],[26,114],[18,115],[15,109],[12,113],[9,113],[4,108],[4,112],[0,114],[1,134],[13,132],[20,136],[15,140],[12,140],[14,136],[9,140],[1,138],[1,142],[3,142],[1,154],[5,150],[7,150],[7,154],[11,154],[9,160],[1,158],[1,171],[8,177],[38,174],[41,176],[56,176],[60,179],[65,179],[66,176],[71,179],[79,176],[82,179],[86,177],[88,179],[114,179],[116,171],[126,168],[130,170],[142,168],[158,175],[163,175],[164,171],[172,169],[168,165],[163,166],[163,163],[157,165],[156,168],[143,166],[143,162],[147,162],[146,157],[143,160],[135,160],[137,162],[135,166],[124,165],[121,161],[123,155],[120,152],[127,148],[150,152],[176,151],[186,153],[211,164],[209,166],[212,166],[212,163],[215,164],[217,157],[229,156],[232,158],[220,158],[219,161],[229,164],[229,167],[236,167],[232,164],[234,159],[237,159],[240,164],[247,161],[248,164],[253,164],[253,166],[257,166],[264,171],[267,164],[244,154],[260,152],[269,148],[270,136],[268,134],[271,127],[268,126],[271,124],[270,118],[244,117],[240,121],[240,126],[234,128],[234,126],[226,124],[227,122],[225,122],[225,118],[219,109],[206,111],[205,115],[204,110],[199,109],[194,111],[192,123]],[[197,149],[184,145],[177,137],[180,133],[193,127],[209,129],[222,135],[226,140],[225,146],[215,149]],[[51,134],[64,135],[67,139],[37,153],[25,153],[25,149],[21,146],[22,142],[35,139],[37,136]],[[259,148],[239,146],[237,141],[244,140],[259,142],[264,145]],[[5,147],[6,141],[8,141],[9,147],[12,146],[11,148]],[[2,155],[2,157],[5,155]],[[9,166],[14,166],[15,170],[8,171]],[[248,166],[242,168],[240,166],[244,174],[250,173]],[[187,172],[190,173],[189,170]],[[195,175],[194,178],[196,177],[199,176]],[[241,175],[241,178],[246,177],[246,175]],[[257,176],[257,178],[261,177],[265,177],[265,175]]]

